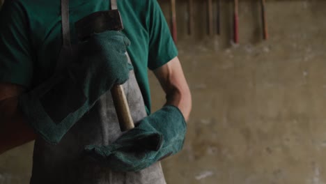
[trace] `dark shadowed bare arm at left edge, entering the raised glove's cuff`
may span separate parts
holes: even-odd
[[[0,83],[0,155],[36,138],[18,105],[22,86]]]

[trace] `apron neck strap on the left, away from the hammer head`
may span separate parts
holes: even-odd
[[[63,45],[70,47],[69,0],[61,0],[61,24]]]

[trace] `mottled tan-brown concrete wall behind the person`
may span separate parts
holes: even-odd
[[[159,2],[169,19],[169,2]],[[185,148],[163,162],[168,183],[326,183],[326,1],[267,1],[267,41],[258,0],[240,1],[240,45],[231,43],[231,2],[221,36],[206,35],[199,1],[187,36],[187,1],[177,6],[194,107]],[[164,95],[150,76],[155,110]],[[1,184],[28,183],[31,148],[0,156]]]

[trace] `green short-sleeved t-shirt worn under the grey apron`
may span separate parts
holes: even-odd
[[[100,10],[109,0],[70,0],[72,44],[77,43],[74,24]],[[54,73],[62,45],[60,0],[6,0],[0,13],[0,82],[33,89]],[[178,51],[156,0],[118,0],[123,33],[137,82],[150,113],[147,69],[169,62]]]

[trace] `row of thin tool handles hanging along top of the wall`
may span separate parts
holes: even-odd
[[[192,34],[193,27],[194,27],[194,0],[188,0],[188,9],[189,9],[189,22],[188,22],[188,30],[189,34]],[[212,0],[206,0],[208,3],[208,32],[210,35],[213,34],[213,13],[212,13]],[[220,8],[221,8],[221,0],[217,1],[217,34],[220,34]],[[231,0],[233,1],[233,42],[235,44],[239,43],[239,0]],[[267,33],[267,24],[266,24],[266,13],[265,13],[265,0],[261,1],[261,20],[263,24],[263,39],[268,39]],[[176,0],[171,0],[171,34],[175,43],[177,43],[178,36],[177,36],[177,23],[176,23]]]

